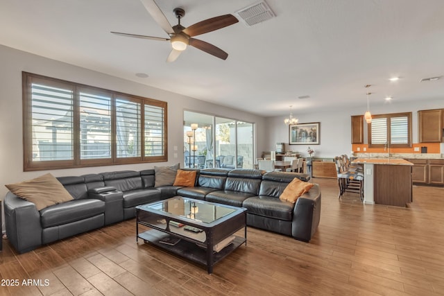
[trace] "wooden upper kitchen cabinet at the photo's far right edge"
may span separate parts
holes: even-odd
[[[444,112],[442,109],[418,111],[418,131],[420,143],[440,143],[443,141]]]

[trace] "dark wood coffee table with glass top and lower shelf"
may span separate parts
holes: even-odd
[[[137,239],[207,266],[246,244],[246,209],[176,196],[136,207]],[[139,233],[139,225],[151,229]],[[244,228],[244,237],[234,235]]]

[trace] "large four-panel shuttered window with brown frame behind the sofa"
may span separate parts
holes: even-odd
[[[24,171],[167,162],[167,103],[23,72]]]

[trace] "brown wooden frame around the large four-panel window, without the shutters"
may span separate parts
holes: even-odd
[[[50,161],[35,161],[33,160],[33,123],[31,119],[31,102],[32,92],[31,83],[33,80],[46,80],[50,84],[58,84],[63,87],[74,90],[74,156],[69,160],[50,160]],[[89,89],[93,92],[105,92],[112,95],[111,98],[111,155],[109,158],[98,159],[80,159],[80,89]],[[140,102],[140,157],[117,157],[117,126],[116,126],[116,98],[127,98],[130,101]],[[158,101],[153,98],[144,98],[142,96],[135,96],[131,94],[124,94],[121,92],[114,92],[109,89],[102,89],[99,87],[92,87],[90,85],[83,85],[76,82],[69,82],[67,80],[60,80],[58,78],[51,78],[35,73],[22,72],[22,103],[23,103],[23,168],[24,171],[42,171],[53,170],[61,168],[85,168],[91,166],[113,166],[119,164],[139,164],[151,162],[167,162],[168,161],[168,103]],[[161,107],[163,109],[163,154],[156,156],[145,156],[145,119],[144,106],[152,105]]]

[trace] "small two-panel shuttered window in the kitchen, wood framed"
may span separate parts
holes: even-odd
[[[368,124],[369,147],[411,147],[411,112],[378,114]]]

